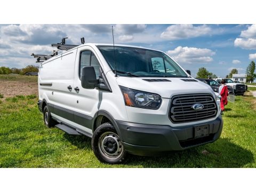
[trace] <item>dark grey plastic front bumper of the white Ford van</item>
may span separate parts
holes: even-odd
[[[164,151],[183,150],[214,142],[220,138],[221,116],[211,122],[187,126],[149,125],[116,121],[124,149],[135,155],[153,155]],[[209,125],[209,136],[194,139],[195,126]]]

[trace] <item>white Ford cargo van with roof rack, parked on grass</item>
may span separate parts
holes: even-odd
[[[101,162],[123,162],[127,153],[183,150],[220,137],[218,97],[164,52],[92,43],[66,50],[33,54],[44,60],[39,110],[48,127],[91,137]]]

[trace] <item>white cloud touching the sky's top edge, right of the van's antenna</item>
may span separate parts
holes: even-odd
[[[161,38],[176,40],[182,38],[191,38],[206,35],[211,31],[211,28],[206,25],[193,26],[188,25],[171,25],[161,34]]]

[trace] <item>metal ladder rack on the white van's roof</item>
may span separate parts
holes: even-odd
[[[79,45],[66,45],[66,38],[62,38],[61,43],[55,43],[52,44],[52,47],[57,47],[58,50],[53,50],[53,52],[49,55],[44,55],[44,54],[34,54],[32,53],[31,56],[34,58],[37,58],[36,62],[44,62],[47,59],[51,59],[52,57],[54,57],[55,55],[58,55],[58,51],[60,50],[64,50],[64,51],[68,51],[70,49],[73,49],[74,47],[77,47]],[[84,37],[81,38],[81,43],[84,44]]]

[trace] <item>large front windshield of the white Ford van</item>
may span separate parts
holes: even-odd
[[[98,45],[98,49],[115,70],[113,46]],[[116,71],[127,77],[188,77],[166,54],[137,47],[115,46]],[[119,71],[119,72],[118,72]]]

